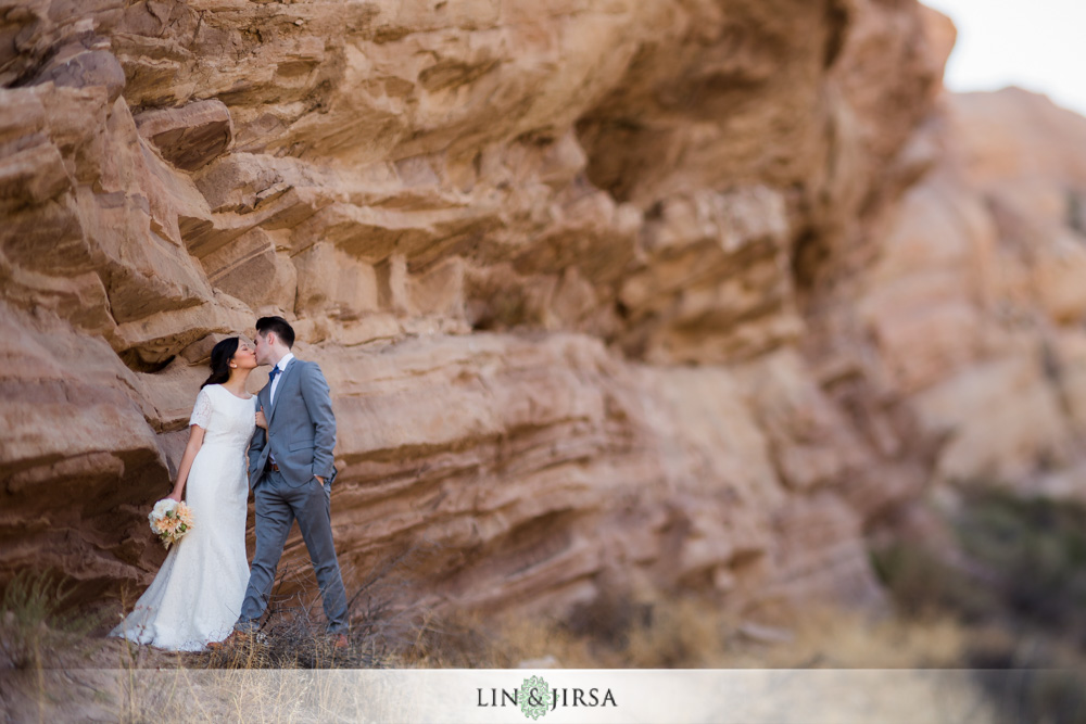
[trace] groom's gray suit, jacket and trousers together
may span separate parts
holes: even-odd
[[[267,433],[256,429],[249,445],[249,486],[256,507],[256,555],[236,628],[257,627],[272,594],[287,534],[298,520],[310,551],[329,633],[348,626],[346,594],[332,544],[331,482],[336,478],[336,417],[328,383],[316,363],[291,359],[272,385],[257,393]],[[279,467],[272,470],[270,459]],[[320,485],[316,477],[325,479]]]

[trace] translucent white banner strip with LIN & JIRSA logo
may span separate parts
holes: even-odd
[[[96,712],[128,721],[995,721],[967,670],[78,670],[46,672],[45,687],[93,691]]]

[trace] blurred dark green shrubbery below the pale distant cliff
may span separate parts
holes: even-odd
[[[945,522],[952,549],[873,551],[902,625],[957,622],[1006,721],[1086,722],[1086,506],[974,484]]]

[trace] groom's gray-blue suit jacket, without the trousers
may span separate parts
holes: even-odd
[[[249,486],[260,482],[269,454],[291,485],[303,485],[314,475],[333,480],[336,416],[320,367],[295,357],[279,374],[275,403],[270,384],[265,384],[256,396],[268,429],[265,432],[256,428],[249,445]]]

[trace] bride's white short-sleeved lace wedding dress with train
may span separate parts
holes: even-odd
[[[243,399],[219,384],[197,395],[189,424],[205,432],[186,483],[192,530],[171,546],[151,586],[111,636],[199,651],[230,634],[249,584],[245,449],[255,415],[255,395]]]

